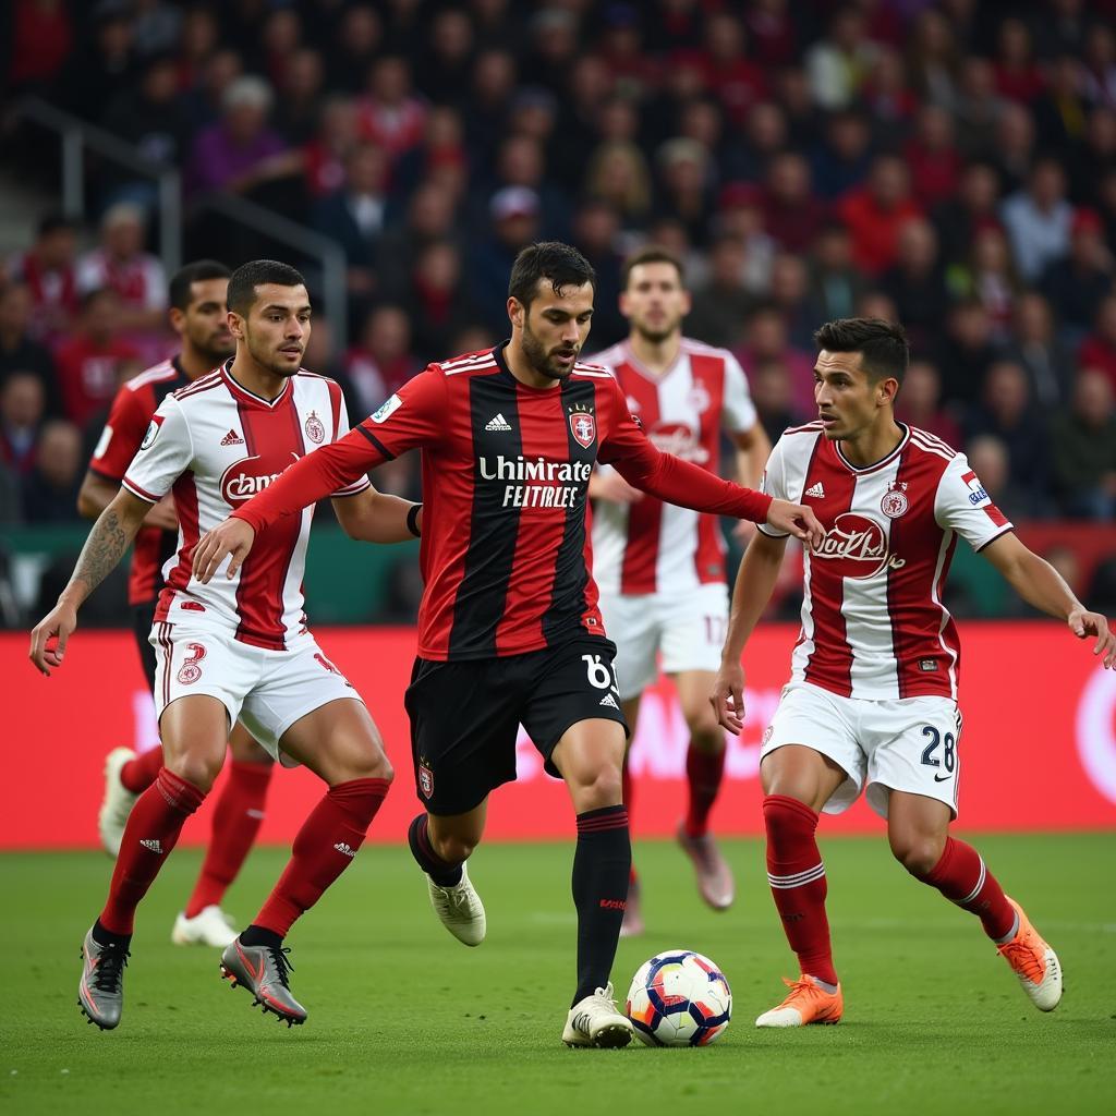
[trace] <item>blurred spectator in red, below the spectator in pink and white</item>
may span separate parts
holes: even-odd
[[[107,407],[116,391],[116,366],[137,354],[121,337],[121,296],[110,287],[92,290],[81,302],[77,329],[55,360],[66,416],[84,429]]]

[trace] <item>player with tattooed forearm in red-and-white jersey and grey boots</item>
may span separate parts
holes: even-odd
[[[233,987],[247,987],[288,1024],[307,1013],[290,991],[283,939],[349,865],[392,779],[368,711],[306,627],[312,508],[261,532],[251,559],[229,577],[191,579],[202,531],[348,430],[337,384],[300,368],[310,302],[298,271],[272,260],[246,263],[229,280],[228,301],[235,357],[158,405],[58,605],[31,633],[35,665],[45,674],[61,666],[83,600],[121,560],[151,507],[174,492],[179,551],[151,634],[165,766],[128,816],[108,901],[81,950],[78,1002],[106,1030],[121,1019],[136,906],[213,786],[238,719],[272,758],[305,763],[328,786],[270,897],[221,959]],[[367,477],[354,474],[331,496],[354,538],[419,533],[419,506],[382,496]]]

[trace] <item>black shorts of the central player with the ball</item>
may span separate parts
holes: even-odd
[[[615,655],[590,636],[506,658],[416,658],[404,705],[419,800],[431,814],[464,814],[512,782],[520,724],[556,777],[550,753],[570,725],[602,718],[627,732]]]

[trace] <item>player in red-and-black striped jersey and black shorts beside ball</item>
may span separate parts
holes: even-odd
[[[577,990],[562,1040],[618,1047],[632,1024],[616,1008],[609,971],[632,848],[615,647],[589,573],[593,465],[613,463],[636,488],[701,511],[819,540],[821,532],[801,508],[662,454],[644,436],[613,376],[577,359],[595,280],[566,244],[523,249],[509,283],[510,340],[430,365],[205,536],[194,571],[208,581],[227,555],[230,569],[250,561],[257,535],[422,448],[425,591],[405,704],[423,812],[411,824],[411,849],[442,923],[479,945],[484,907],[465,862],[481,839],[489,793],[516,777],[522,724],[547,770],[566,781],[577,815]]]

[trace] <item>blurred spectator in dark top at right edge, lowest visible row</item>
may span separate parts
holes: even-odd
[[[1055,415],[1051,465],[1062,514],[1116,519],[1116,405],[1108,377],[1083,368],[1069,406]]]

